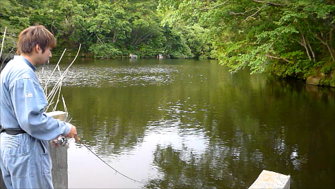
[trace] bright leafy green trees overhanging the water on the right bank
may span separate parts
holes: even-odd
[[[334,70],[325,67],[335,62],[333,1],[160,0],[160,7],[206,28],[213,36],[211,57],[232,70],[304,79]]]

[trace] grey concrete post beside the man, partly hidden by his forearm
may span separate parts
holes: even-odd
[[[56,111],[47,113],[52,118],[66,121],[67,113]],[[67,166],[67,149],[60,145],[58,148],[52,147],[49,144],[49,153],[52,159],[52,183],[54,188],[67,189],[68,186],[68,166]],[[6,185],[2,179],[2,173],[0,170],[0,188],[6,189]]]

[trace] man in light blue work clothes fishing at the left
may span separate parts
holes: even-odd
[[[1,72],[0,165],[11,188],[53,188],[47,141],[59,135],[76,137],[76,127],[45,114],[47,100],[35,67],[48,62],[56,46],[44,26],[31,26],[18,37],[18,50]]]

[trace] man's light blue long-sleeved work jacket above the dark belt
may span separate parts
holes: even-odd
[[[15,56],[1,72],[0,123],[4,129],[22,129],[32,137],[51,140],[67,135],[71,125],[45,114],[47,100],[35,67]]]

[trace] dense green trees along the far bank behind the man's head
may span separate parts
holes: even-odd
[[[193,57],[187,35],[180,28],[165,30],[158,2],[108,0],[4,0],[1,3],[0,29],[8,26],[7,41],[29,25],[42,24],[57,38],[56,55],[64,48],[82,44],[83,54],[118,57],[135,53],[141,57],[158,54],[175,58]],[[192,36],[189,37],[194,37]],[[198,45],[190,42],[192,45]],[[9,49],[8,45],[6,46]],[[204,50],[209,49],[204,47]],[[195,47],[193,50],[196,50]],[[199,54],[199,52],[196,52]]]

